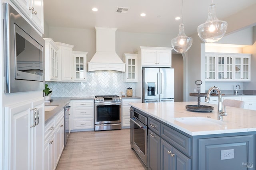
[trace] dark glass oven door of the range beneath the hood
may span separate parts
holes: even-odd
[[[95,124],[121,123],[121,103],[95,104]]]

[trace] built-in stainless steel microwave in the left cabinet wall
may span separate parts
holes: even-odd
[[[44,39],[22,16],[3,3],[4,92],[44,89]]]

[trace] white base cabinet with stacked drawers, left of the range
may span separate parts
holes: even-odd
[[[94,100],[74,100],[73,131],[89,131],[94,129]]]

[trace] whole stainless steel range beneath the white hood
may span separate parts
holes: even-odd
[[[95,96],[95,131],[121,129],[121,98]]]

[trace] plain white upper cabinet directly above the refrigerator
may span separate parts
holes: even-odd
[[[141,66],[172,67],[172,48],[140,47]]]

